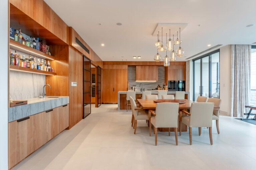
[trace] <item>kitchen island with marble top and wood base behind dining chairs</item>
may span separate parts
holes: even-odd
[[[158,94],[158,91],[163,90],[147,90],[151,91],[151,94]],[[126,92],[127,91],[118,91],[118,110],[126,110]],[[167,91],[167,94],[173,94],[175,96],[175,91]],[[142,98],[142,91],[136,91],[136,99]],[[185,99],[190,98],[190,92],[185,91]],[[129,101],[130,103],[130,101]],[[128,105],[128,109],[131,109],[131,106]]]

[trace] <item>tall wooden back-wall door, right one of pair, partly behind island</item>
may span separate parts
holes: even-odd
[[[128,70],[114,69],[114,102],[118,102],[118,91],[126,91],[128,84]]]

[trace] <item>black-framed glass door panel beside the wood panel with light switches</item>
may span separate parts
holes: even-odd
[[[91,61],[83,56],[83,118],[91,113]]]

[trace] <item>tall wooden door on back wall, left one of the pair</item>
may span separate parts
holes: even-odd
[[[103,91],[102,102],[112,103],[114,102],[114,74],[115,69],[103,69]]]

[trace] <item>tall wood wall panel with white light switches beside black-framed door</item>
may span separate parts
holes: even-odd
[[[83,56],[69,46],[69,129],[83,117]],[[71,86],[77,82],[77,86]]]

